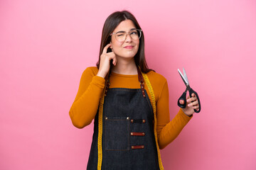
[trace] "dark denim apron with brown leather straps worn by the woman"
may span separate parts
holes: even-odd
[[[140,75],[142,73],[138,69],[138,77]],[[142,78],[139,77],[140,79]],[[142,84],[144,84],[143,79]],[[107,87],[105,90],[107,95],[102,111],[100,169],[159,169],[154,137],[154,113],[142,84],[141,89],[108,89]],[[95,116],[94,134],[87,164],[89,170],[99,169],[98,116],[99,111]]]

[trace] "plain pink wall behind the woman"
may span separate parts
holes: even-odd
[[[165,169],[256,169],[256,2],[0,1],[0,169],[86,169],[93,124],[68,111],[102,26],[127,9],[146,39],[149,67],[169,82],[170,115],[185,90],[202,104],[161,157]]]

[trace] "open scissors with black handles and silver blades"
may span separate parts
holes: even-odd
[[[180,108],[186,108],[186,92],[189,91],[189,96],[192,97],[192,94],[195,94],[195,95],[196,95],[196,98],[198,99],[199,110],[196,111],[196,109],[194,109],[194,111],[195,111],[196,113],[199,113],[199,112],[201,111],[200,100],[199,100],[199,97],[198,97],[198,94],[196,93],[196,91],[193,91],[193,89],[191,89],[191,87],[189,86],[188,77],[186,76],[185,69],[183,68],[183,74],[182,74],[181,71],[178,69],[178,73],[181,75],[181,79],[183,80],[184,84],[186,85],[186,90],[183,92],[183,94],[181,95],[181,97],[178,98],[178,106],[179,106]],[[183,100],[184,103],[183,103],[183,104],[179,103],[180,100]]]

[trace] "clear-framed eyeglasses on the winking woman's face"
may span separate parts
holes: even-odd
[[[139,40],[139,38],[141,38],[141,36],[142,36],[142,30],[141,29],[132,29],[128,33],[121,30],[121,31],[118,31],[117,33],[110,34],[110,36],[115,35],[114,37],[119,42],[124,42],[124,40],[126,40],[128,34],[132,38],[132,40]]]

